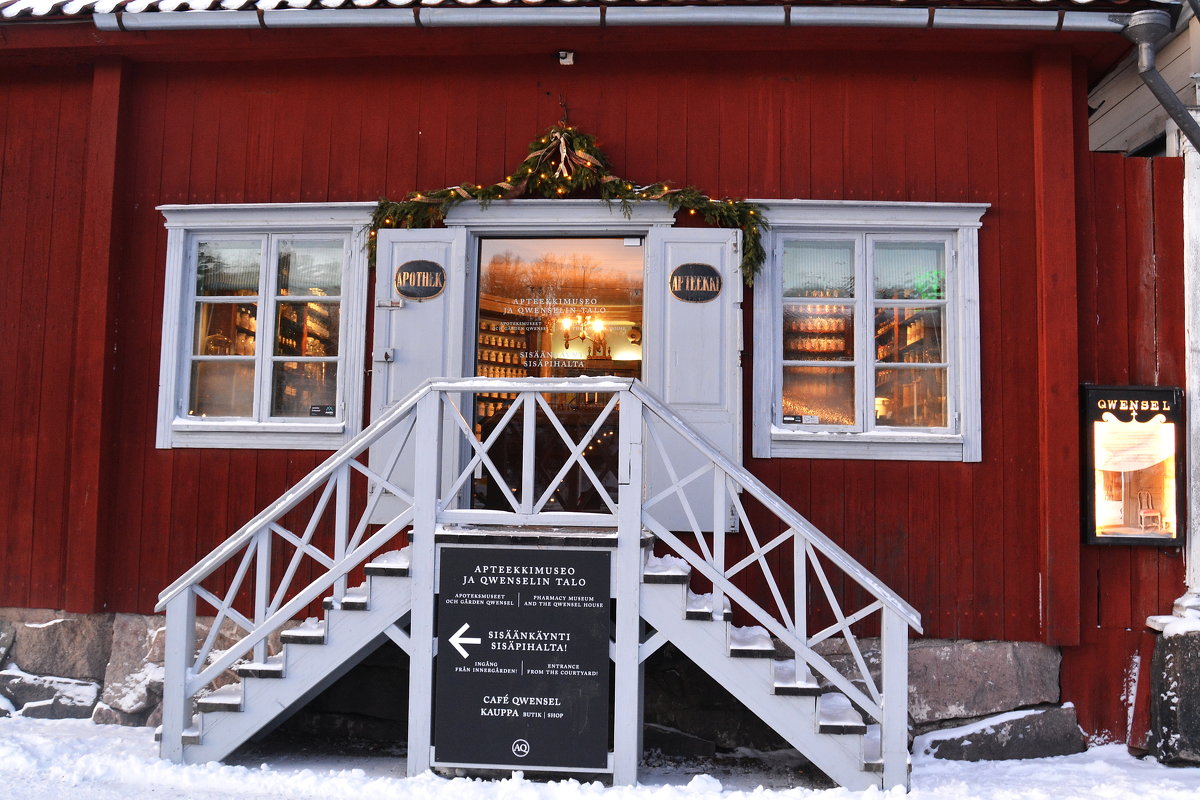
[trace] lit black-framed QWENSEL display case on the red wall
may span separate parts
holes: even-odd
[[[1182,545],[1183,391],[1084,386],[1084,536]]]

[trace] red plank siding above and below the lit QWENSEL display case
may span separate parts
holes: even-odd
[[[1183,374],[1183,163],[1085,155],[1079,162],[1079,377],[1180,386]],[[1063,649],[1063,697],[1086,730],[1126,741],[1126,675],[1146,616],[1183,594],[1178,548],[1084,546],[1079,646]]]

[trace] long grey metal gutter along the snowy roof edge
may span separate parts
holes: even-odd
[[[1200,2],[1200,0],[1189,0]],[[1148,11],[1138,13],[1163,14]],[[92,14],[113,31],[235,28],[931,28],[1121,34],[1130,14],[1004,8],[282,8],[274,11],[155,11]]]

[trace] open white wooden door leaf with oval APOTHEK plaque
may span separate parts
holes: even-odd
[[[440,291],[437,281],[413,276],[444,273]],[[425,288],[425,291],[420,289]],[[472,289],[474,291],[474,289]],[[404,294],[409,296],[404,296]],[[403,399],[430,378],[458,378],[463,374],[463,337],[467,308],[467,231],[462,228],[420,230],[384,229],[376,249],[376,308],[371,366],[371,419]],[[472,295],[473,296],[473,295]],[[407,426],[371,447],[370,467],[384,470]],[[390,480],[406,492],[413,489],[410,459],[401,459],[390,470]],[[386,522],[398,506],[380,499],[372,522]]]

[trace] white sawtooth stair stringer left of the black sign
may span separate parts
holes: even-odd
[[[324,644],[283,645],[282,678],[242,678],[241,711],[197,715],[198,744],[185,744],[184,763],[217,762],[256,734],[282,722],[292,709],[311,699],[365,658],[384,631],[412,607],[412,579],[367,578],[366,610],[325,610]]]

